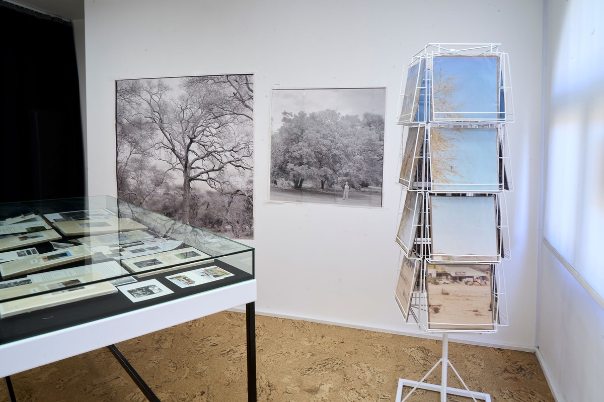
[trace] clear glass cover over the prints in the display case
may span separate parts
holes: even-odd
[[[161,303],[254,275],[252,247],[109,196],[1,204],[0,233],[0,325],[75,301],[74,317],[108,316],[137,308],[124,296]]]

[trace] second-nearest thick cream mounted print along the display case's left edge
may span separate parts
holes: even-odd
[[[0,264],[2,279],[42,271],[53,266],[76,262],[91,256],[90,250],[84,246],[69,247],[64,250],[54,250],[22,259]]]

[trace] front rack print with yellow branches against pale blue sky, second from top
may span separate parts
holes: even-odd
[[[496,192],[500,189],[496,128],[430,129],[433,192]]]

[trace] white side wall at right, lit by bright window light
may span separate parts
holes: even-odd
[[[548,0],[538,356],[559,401],[602,400],[604,3]]]

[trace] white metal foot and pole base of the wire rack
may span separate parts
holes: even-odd
[[[451,362],[449,362],[448,356],[449,356],[449,335],[443,334],[443,357],[442,357],[442,359],[440,359],[434,366],[432,366],[430,371],[428,371],[428,373],[423,376],[421,381],[411,381],[411,380],[405,380],[403,378],[399,378],[399,385],[396,389],[395,402],[406,401],[407,398],[409,398],[411,396],[411,394],[413,394],[413,392],[418,388],[426,389],[427,391],[440,392],[440,402],[446,402],[447,395],[458,395],[460,397],[472,398],[472,400],[474,402],[478,402],[478,400],[491,402],[489,394],[483,394],[482,392],[471,392],[467,388],[466,383],[463,382],[463,380],[461,379],[457,370],[455,370],[455,368],[453,367]],[[430,375],[432,373],[432,371],[434,371],[434,369],[437,368],[437,366],[439,366],[439,364],[442,364],[441,384],[435,385],[435,384],[425,383],[424,381],[426,380],[426,378],[428,378],[428,375]],[[447,386],[447,369],[449,366],[455,372],[455,375],[457,375],[457,378],[459,378],[461,385],[463,385],[465,389],[451,388],[451,387]],[[412,389],[405,396],[404,399],[401,399],[403,397],[403,387],[404,386],[412,387]]]

